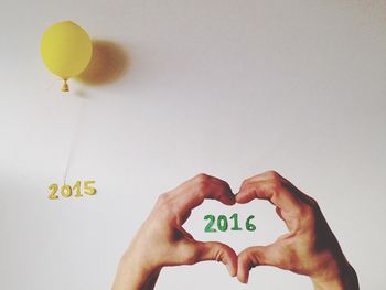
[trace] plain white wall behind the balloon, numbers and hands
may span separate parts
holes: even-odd
[[[199,172],[237,191],[276,169],[319,201],[362,288],[382,289],[385,9],[375,0],[2,0],[0,288],[109,289],[160,193]],[[67,19],[124,47],[128,73],[107,85],[71,82],[62,96],[40,40]],[[50,201],[69,151],[67,182],[95,179],[98,193]],[[203,214],[222,212],[254,213],[258,230],[204,234]],[[262,202],[207,202],[186,227],[237,251],[285,232]],[[244,287],[206,262],[165,269],[158,289],[211,286],[311,288],[264,267]]]

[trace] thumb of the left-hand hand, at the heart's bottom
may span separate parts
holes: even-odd
[[[232,277],[237,273],[237,255],[227,245],[218,241],[196,241],[197,260],[216,260],[223,262]]]

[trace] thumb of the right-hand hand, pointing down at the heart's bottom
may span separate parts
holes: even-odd
[[[247,283],[249,270],[259,265],[280,266],[280,249],[275,245],[250,247],[238,254],[237,279]]]

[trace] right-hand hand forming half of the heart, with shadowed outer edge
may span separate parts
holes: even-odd
[[[243,182],[236,202],[254,198],[272,203],[289,233],[269,246],[243,250],[238,255],[239,281],[248,281],[251,267],[268,265],[309,276],[314,289],[360,289],[354,269],[313,198],[272,171]]]

